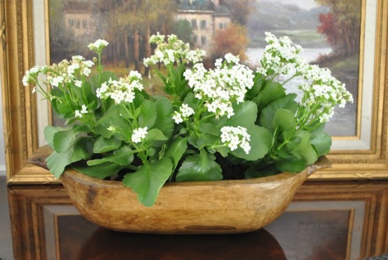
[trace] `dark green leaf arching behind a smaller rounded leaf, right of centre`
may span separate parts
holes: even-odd
[[[263,108],[260,113],[260,124],[263,127],[266,127],[267,129],[273,131],[274,129],[272,129],[272,121],[275,117],[277,110],[284,108],[286,110],[290,110],[293,114],[296,113],[298,104],[294,101],[295,98],[296,94],[287,94],[286,96],[273,101],[268,106]]]

